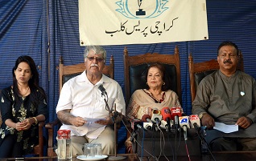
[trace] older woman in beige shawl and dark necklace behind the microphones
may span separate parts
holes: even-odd
[[[162,64],[155,63],[147,69],[147,89],[139,89],[131,95],[126,110],[126,119],[142,119],[143,115],[151,115],[152,109],[161,111],[163,107],[180,107],[178,95],[171,91],[170,77]],[[181,108],[182,110],[182,108]],[[132,143],[126,140],[127,150]]]

